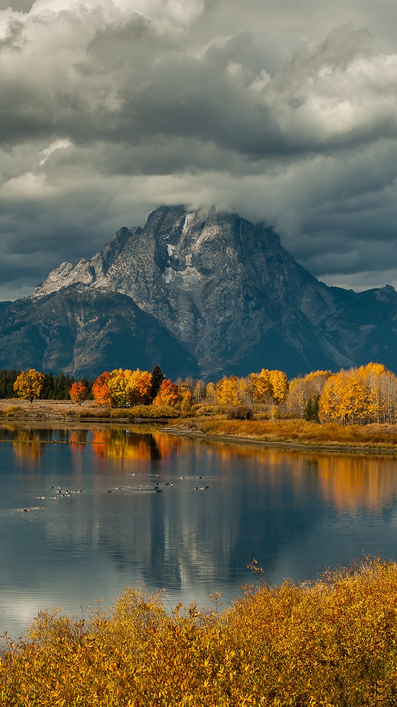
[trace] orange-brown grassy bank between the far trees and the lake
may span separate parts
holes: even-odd
[[[154,406],[102,409],[92,401],[81,406],[71,401],[0,400],[0,422],[21,423],[141,423],[161,424],[164,432],[253,445],[291,449],[397,454],[397,425],[322,425],[305,420],[229,420],[221,414],[181,414]]]

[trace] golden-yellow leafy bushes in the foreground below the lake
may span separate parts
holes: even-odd
[[[86,621],[44,612],[0,665],[6,706],[395,706],[397,565],[247,586],[219,613],[126,588]]]

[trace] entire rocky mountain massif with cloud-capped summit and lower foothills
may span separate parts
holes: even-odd
[[[369,360],[396,370],[397,293],[328,287],[263,223],[161,206],[103,250],[62,263],[1,317],[0,368],[75,375],[288,375]]]

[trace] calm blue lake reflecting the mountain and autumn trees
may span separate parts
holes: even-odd
[[[226,604],[252,580],[254,558],[280,583],[362,551],[394,557],[396,497],[392,457],[211,443],[154,426],[2,424],[0,631],[18,636],[40,608],[110,605],[140,581],[165,588],[170,606],[207,605],[210,592]]]

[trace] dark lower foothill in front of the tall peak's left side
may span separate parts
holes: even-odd
[[[198,375],[181,344],[133,300],[73,284],[42,298],[24,298],[3,313],[0,368],[37,368],[74,375],[149,368]]]

